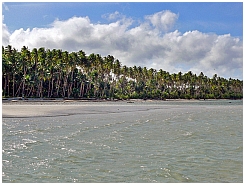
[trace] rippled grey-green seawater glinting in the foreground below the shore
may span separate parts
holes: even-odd
[[[77,102],[3,116],[2,182],[241,183],[242,104]]]

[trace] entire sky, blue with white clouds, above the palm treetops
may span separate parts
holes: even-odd
[[[4,2],[2,45],[8,44],[242,79],[243,3]]]

